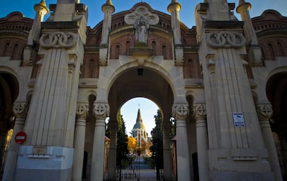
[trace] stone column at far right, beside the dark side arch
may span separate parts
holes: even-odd
[[[269,153],[270,166],[275,175],[275,180],[282,180],[281,169],[279,166],[279,160],[275,148],[275,141],[269,123],[269,119],[270,117],[272,117],[273,114],[272,105],[268,103],[257,104],[257,112],[259,116],[259,123],[261,126],[263,139]]]

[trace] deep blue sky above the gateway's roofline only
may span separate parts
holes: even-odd
[[[25,17],[34,18],[35,3],[40,3],[41,0],[1,0],[0,6],[0,17],[6,17],[10,12],[19,11],[24,14]],[[151,8],[154,10],[159,10],[165,12],[169,15],[167,11],[167,6],[171,3],[171,0],[142,0],[143,2],[149,3]],[[181,3],[182,9],[180,10],[180,20],[189,28],[195,26],[194,20],[194,10],[198,3],[202,3],[204,0],[177,0]],[[266,9],[277,10],[281,15],[287,16],[287,1],[286,0],[245,0],[252,4],[250,9],[250,16],[256,17],[261,15],[261,13]],[[46,6],[49,4],[56,3],[57,0],[46,0]],[[84,3],[88,8],[88,26],[92,28],[96,26],[103,19],[103,12],[101,11],[101,6],[106,0],[80,0],[80,3]],[[140,0],[112,0],[115,7],[115,12],[121,12],[123,10],[129,10],[135,3],[141,2]],[[227,0],[229,3],[236,3],[238,6],[238,0]],[[241,19],[240,15],[234,10],[234,15],[238,19]],[[46,15],[44,19],[47,19],[49,15]]]

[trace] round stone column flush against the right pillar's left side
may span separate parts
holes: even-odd
[[[200,180],[209,180],[207,111],[204,103],[195,104],[193,108],[196,125],[196,145],[198,148],[198,175]]]

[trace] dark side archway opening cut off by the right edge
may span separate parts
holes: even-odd
[[[284,180],[287,179],[287,72],[272,75],[266,84],[266,94],[272,104],[270,119],[277,146],[277,155]]]

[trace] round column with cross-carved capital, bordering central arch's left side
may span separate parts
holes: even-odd
[[[107,103],[95,103],[94,114],[96,117],[91,180],[103,180],[103,166],[105,157],[105,119],[110,114],[110,107]]]

